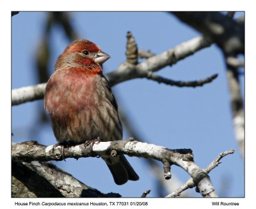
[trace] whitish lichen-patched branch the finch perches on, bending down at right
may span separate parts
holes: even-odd
[[[193,178],[193,182],[197,185],[202,196],[217,197],[207,173],[193,162],[193,153],[190,149],[170,150],[163,146],[132,141],[131,138],[121,141],[95,143],[92,148],[79,144],[64,149],[65,158],[72,157],[75,159],[96,157],[98,155],[115,157],[120,153],[133,157],[152,158],[163,162],[164,177],[166,179],[171,178],[170,166],[175,164],[182,167]],[[35,141],[12,145],[13,162],[31,162],[33,160],[62,160],[61,146],[44,146],[37,144]]]

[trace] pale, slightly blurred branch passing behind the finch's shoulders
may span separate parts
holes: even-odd
[[[115,71],[106,75],[109,84],[114,86],[120,82],[128,81],[134,78],[147,77],[148,72],[156,72],[164,68],[164,66],[173,65],[200,49],[209,47],[209,42],[204,37],[196,37],[188,42],[177,45],[174,49],[170,49],[162,54],[148,58],[146,61],[138,65],[131,63],[122,63]],[[25,102],[39,100],[44,97],[45,83],[36,86],[28,86],[12,90],[12,105],[19,105]]]

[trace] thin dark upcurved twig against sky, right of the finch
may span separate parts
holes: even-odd
[[[148,72],[148,75],[147,75],[147,79],[157,81],[159,83],[163,82],[164,84],[168,84],[171,86],[194,87],[194,88],[198,86],[204,86],[204,84],[212,82],[214,79],[216,79],[216,77],[218,77],[218,74],[214,74],[211,77],[207,77],[206,79],[202,79],[199,81],[173,81],[172,79],[166,79],[159,75],[153,74],[152,72]]]

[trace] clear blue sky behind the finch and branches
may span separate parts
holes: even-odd
[[[164,12],[72,12],[70,16],[80,38],[97,43],[111,56],[104,63],[105,74],[125,61],[127,31],[132,32],[139,49],[150,49],[156,54],[200,36]],[[12,89],[38,83],[35,56],[46,18],[45,12],[21,12],[12,17]],[[53,72],[56,58],[70,42],[61,27],[54,27],[50,41],[50,69]],[[210,173],[210,177],[220,196],[243,197],[244,163],[234,139],[225,63],[218,47],[212,45],[200,50],[157,74],[177,81],[195,81],[219,74],[216,80],[198,88],[177,88],[147,79],[133,79],[117,84],[113,91],[134,128],[148,143],[173,149],[191,148],[196,164],[202,168],[222,151],[234,148],[236,152],[221,160],[222,164]],[[243,88],[243,75],[240,79]],[[43,107],[42,100],[12,107],[14,142],[36,140],[45,145],[56,143],[51,125],[39,123],[39,107]],[[124,132],[124,138],[127,137],[131,135]],[[54,164],[104,193],[118,192],[124,197],[139,197],[144,190],[151,189],[148,197],[157,196],[156,181],[150,167],[143,159],[127,159],[140,180],[122,186],[115,185],[101,159],[67,159],[67,162]],[[172,172],[183,183],[189,178],[177,166],[172,167]],[[193,196],[200,197],[195,189],[191,192]]]

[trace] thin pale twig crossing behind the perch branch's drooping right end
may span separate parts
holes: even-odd
[[[231,149],[231,150],[228,150],[228,151],[224,151],[223,153],[220,153],[220,155],[218,155],[218,157],[215,160],[213,160],[211,162],[211,164],[207,168],[204,169],[204,171],[207,172],[207,173],[210,173],[212,171],[212,169],[214,169],[215,167],[217,167],[221,163],[220,160],[223,157],[225,157],[226,155],[233,154],[234,152],[235,152],[235,150]],[[189,188],[193,188],[195,186],[196,185],[193,182],[193,179],[189,178],[189,180],[186,183],[184,183],[183,185],[181,185],[179,187],[179,189],[173,191],[171,194],[168,194],[168,196],[166,196],[166,197],[177,197],[177,196],[180,196],[180,194],[182,192],[184,192],[184,190],[187,190]]]

